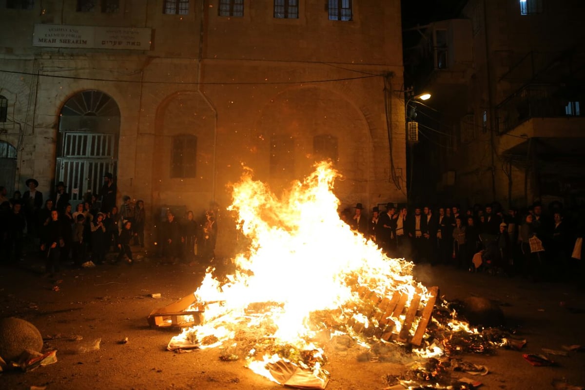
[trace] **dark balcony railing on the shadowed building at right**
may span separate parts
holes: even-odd
[[[566,86],[529,84],[495,108],[498,134],[507,133],[531,118],[580,116],[583,92]]]

